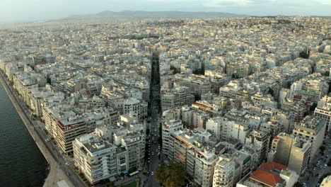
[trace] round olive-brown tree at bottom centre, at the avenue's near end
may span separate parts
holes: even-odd
[[[164,162],[158,167],[155,175],[156,181],[162,183],[166,187],[184,185],[185,171],[180,164],[170,161],[169,166]]]

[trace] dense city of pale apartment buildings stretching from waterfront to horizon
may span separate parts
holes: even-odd
[[[330,18],[0,29],[44,186],[331,186]]]

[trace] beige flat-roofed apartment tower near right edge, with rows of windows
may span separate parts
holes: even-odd
[[[325,125],[325,119],[313,115],[307,115],[301,123],[294,125],[292,135],[311,143],[310,160],[315,157],[323,143]]]

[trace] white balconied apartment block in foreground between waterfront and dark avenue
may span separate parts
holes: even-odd
[[[103,125],[72,143],[75,166],[90,183],[141,171],[145,156],[145,125],[121,115],[117,125]]]

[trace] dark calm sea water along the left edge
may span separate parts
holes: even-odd
[[[0,82],[0,186],[42,186],[47,162]]]

